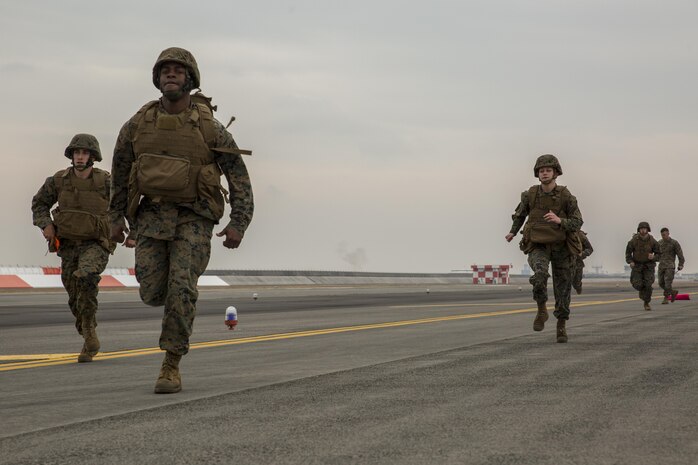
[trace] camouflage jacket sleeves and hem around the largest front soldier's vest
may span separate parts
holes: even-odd
[[[158,111],[165,111],[162,104],[160,104]],[[140,116],[136,114],[123,125],[114,147],[112,196],[109,205],[112,224],[125,227],[125,218],[131,228],[130,234],[132,237],[136,234],[143,234],[156,239],[170,240],[174,237],[174,230],[178,224],[201,218],[215,221],[215,215],[213,215],[205,202],[196,201],[191,204],[177,205],[167,202],[155,203],[147,197],[141,201],[137,218],[126,217],[129,176],[131,165],[136,160],[133,140],[139,118]],[[214,125],[217,130],[216,146],[237,149],[238,146],[233,136],[225,127],[215,119]],[[254,212],[252,184],[247,173],[247,167],[240,155],[216,153],[215,161],[221,168],[230,191],[231,212],[227,227],[233,227],[240,234],[244,235],[245,230],[252,221]]]

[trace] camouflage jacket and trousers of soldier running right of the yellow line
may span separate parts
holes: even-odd
[[[561,186],[558,186],[561,187]],[[542,196],[556,195],[556,192],[545,193],[540,190]],[[524,225],[526,217],[531,210],[529,193],[521,194],[521,202],[512,215],[513,224],[510,233],[517,234]],[[566,206],[567,218],[561,218],[560,227],[566,232],[575,232],[583,224],[582,214],[577,206],[577,199],[570,195]],[[545,303],[548,300],[548,273],[549,265],[553,269],[553,291],[555,295],[554,315],[560,320],[568,320],[570,315],[570,300],[572,290],[572,256],[566,242],[553,244],[531,244],[528,251],[528,264],[533,271],[529,279],[533,285],[533,300],[537,303]]]

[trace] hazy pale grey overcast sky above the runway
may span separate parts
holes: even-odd
[[[180,46],[254,151],[254,219],[239,250],[214,239],[210,268],[520,269],[504,235],[554,153],[588,265],[620,271],[647,220],[698,271],[696,17],[695,0],[2,2],[0,265],[59,263],[31,197],[75,133],[111,169]],[[119,247],[110,266],[132,263]]]

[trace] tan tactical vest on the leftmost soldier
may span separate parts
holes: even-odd
[[[109,189],[105,171],[92,168],[89,178],[73,174],[72,168],[53,175],[58,191],[58,208],[53,221],[59,238],[104,240],[109,237]]]

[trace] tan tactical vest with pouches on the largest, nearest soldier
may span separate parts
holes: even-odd
[[[223,216],[221,170],[215,162],[215,126],[211,110],[194,104],[191,111],[169,115],[158,111],[158,101],[138,112],[133,149],[136,161],[129,179],[129,213],[135,216],[140,196],[154,202],[208,201]]]

